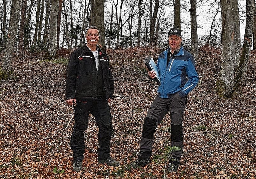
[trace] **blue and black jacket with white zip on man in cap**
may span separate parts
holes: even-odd
[[[199,80],[194,57],[181,46],[180,51],[170,58],[167,65],[168,52],[170,48],[158,56],[156,64],[161,79],[158,96],[168,98],[178,92],[181,97],[185,97]]]

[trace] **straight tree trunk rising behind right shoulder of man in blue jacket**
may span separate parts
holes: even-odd
[[[191,54],[197,62],[198,56],[198,41],[197,41],[197,22],[196,22],[196,0],[190,0],[190,22],[191,22]]]

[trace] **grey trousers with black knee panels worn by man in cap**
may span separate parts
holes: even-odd
[[[178,93],[169,95],[168,98],[156,97],[148,109],[146,119],[143,124],[142,137],[140,140],[140,152],[138,159],[146,160],[152,155],[152,144],[154,132],[164,116],[170,111],[171,118],[171,146],[180,147],[180,151],[174,151],[172,157],[178,159],[183,149],[183,128],[182,119],[186,105],[186,97],[181,97]]]

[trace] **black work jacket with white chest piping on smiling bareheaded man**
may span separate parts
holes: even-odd
[[[102,68],[103,91],[106,99],[111,99],[114,93],[114,79],[109,58],[100,48],[98,57]],[[94,55],[86,44],[74,50],[68,62],[65,99],[97,98],[97,75]]]

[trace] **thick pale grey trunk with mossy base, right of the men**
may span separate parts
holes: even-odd
[[[221,0],[222,65],[216,82],[219,94],[234,95],[234,22],[232,0]]]

